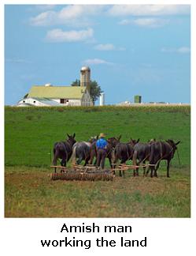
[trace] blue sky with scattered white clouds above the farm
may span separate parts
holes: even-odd
[[[6,5],[5,104],[90,66],[105,103],[190,103],[190,6]]]

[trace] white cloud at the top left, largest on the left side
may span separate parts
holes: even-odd
[[[54,24],[66,24],[72,26],[89,26],[91,21],[88,17],[98,15],[104,6],[97,5],[74,5],[66,6],[60,11],[46,11],[39,13],[30,19],[31,25],[48,26]]]

